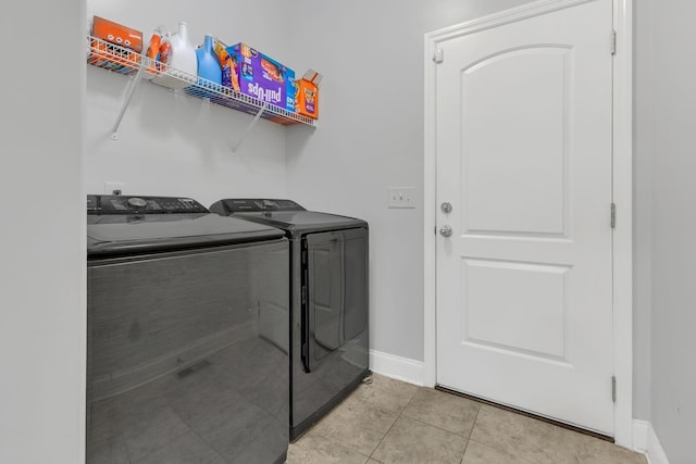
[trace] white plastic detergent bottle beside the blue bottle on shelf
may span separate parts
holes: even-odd
[[[171,58],[167,57],[166,60],[162,60],[169,65],[166,66],[166,73],[158,75],[152,81],[174,89],[185,88],[195,84],[198,60],[196,58],[196,49],[188,38],[188,23],[179,21],[178,30],[165,35],[162,38],[162,42],[169,42]]]

